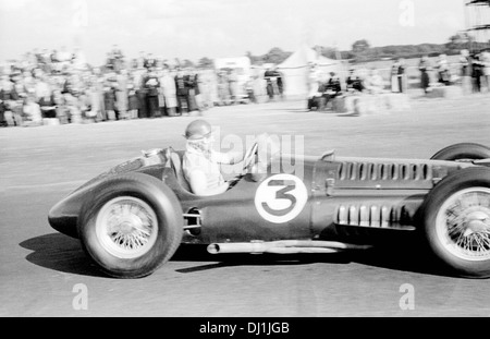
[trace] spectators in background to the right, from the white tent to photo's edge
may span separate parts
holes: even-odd
[[[396,59],[385,70],[388,72],[384,77],[378,69],[363,66],[351,66],[342,78],[335,72],[330,72],[330,76],[324,77],[311,65],[308,109],[326,110],[329,102],[339,96],[406,94],[411,87],[409,69],[420,72],[419,80],[412,85],[420,87],[426,94],[434,87],[443,86],[460,86],[463,94],[480,93],[485,87],[490,93],[490,51],[469,53],[468,50],[462,50],[460,59],[453,59],[452,62],[445,55],[440,55],[436,60],[425,56],[418,65],[412,66],[403,58]]]

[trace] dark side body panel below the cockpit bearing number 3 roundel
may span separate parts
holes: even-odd
[[[204,243],[310,239],[314,164],[303,169],[301,175],[269,169],[259,181],[247,174],[223,195],[188,198],[183,206],[199,211]]]

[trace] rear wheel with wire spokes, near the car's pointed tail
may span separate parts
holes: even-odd
[[[182,207],[175,194],[142,173],[103,180],[78,220],[84,251],[114,278],[152,274],[172,257],[182,234]]]

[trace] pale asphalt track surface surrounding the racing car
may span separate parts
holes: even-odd
[[[417,98],[409,112],[368,117],[304,107],[302,101],[221,107],[205,118],[222,136],[303,135],[308,155],[335,149],[342,156],[430,158],[454,143],[490,145],[490,95]],[[185,246],[150,277],[102,276],[76,240],[50,228],[48,210],[142,149],[182,148],[193,119],[0,130],[0,316],[490,316],[488,280],[427,267],[416,244],[289,256],[211,256],[204,247]],[[401,307],[407,286],[414,310]],[[81,304],[82,292],[87,298]]]

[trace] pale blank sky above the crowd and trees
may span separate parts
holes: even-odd
[[[464,0],[0,0],[0,62],[81,46],[100,64],[114,44],[167,60],[229,58],[302,45],[350,50],[443,44],[467,24]],[[466,17],[466,19],[465,19]]]

